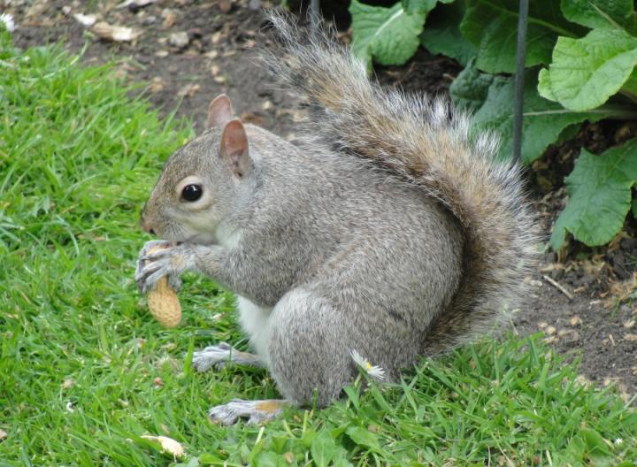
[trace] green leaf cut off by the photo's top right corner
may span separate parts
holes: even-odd
[[[562,0],[561,4],[564,17],[582,26],[637,32],[633,0]]]

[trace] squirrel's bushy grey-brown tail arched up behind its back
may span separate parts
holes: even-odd
[[[449,310],[432,323],[424,352],[456,346],[492,325],[503,304],[522,295],[537,241],[518,166],[494,160],[497,137],[470,141],[469,119],[449,103],[380,88],[329,32],[302,34],[278,12],[270,19],[280,50],[267,63],[276,80],[314,108],[315,141],[418,184],[464,228],[464,279]]]

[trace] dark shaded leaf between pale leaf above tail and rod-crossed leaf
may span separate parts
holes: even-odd
[[[456,58],[462,65],[478,53],[475,46],[460,34],[460,21],[466,8],[464,2],[441,4],[429,14],[420,42],[426,50]]]

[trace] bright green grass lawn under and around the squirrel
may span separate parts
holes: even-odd
[[[188,276],[184,325],[165,330],[132,279],[142,203],[192,134],[132,101],[109,67],[78,61],[12,49],[0,33],[1,466],[175,463],[144,434],[182,442],[191,466],[637,458],[637,414],[575,384],[536,339],[467,346],[400,385],[352,386],[326,410],[290,409],[263,427],[211,425],[211,405],[277,395],[265,371],[187,364],[216,341],[245,348],[232,296]]]

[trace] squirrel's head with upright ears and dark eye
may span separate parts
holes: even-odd
[[[216,230],[253,186],[242,122],[226,95],[208,107],[208,129],[168,158],[140,224],[168,241],[217,243]]]

